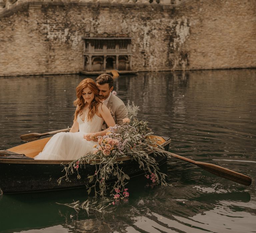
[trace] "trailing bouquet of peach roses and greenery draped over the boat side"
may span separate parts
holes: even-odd
[[[88,194],[94,190],[95,197],[97,195],[105,196],[110,185],[107,181],[110,178],[116,177],[116,181],[112,187],[111,194],[115,204],[120,199],[129,197],[128,189],[125,187],[130,179],[122,169],[122,158],[130,156],[139,164],[140,168],[145,171],[146,178],[150,178],[153,183],[161,183],[167,185],[165,174],[161,173],[158,164],[154,157],[148,156],[148,151],[154,151],[159,154],[159,151],[154,150],[157,143],[148,137],[153,132],[147,126],[147,121],[140,121],[137,118],[139,107],[134,103],[127,103],[128,118],[124,118],[125,126],[115,125],[110,127],[110,130],[104,136],[99,136],[95,142],[94,153],[88,153],[84,157],[74,160],[64,166],[65,175],[58,179],[60,183],[63,178],[69,181],[69,174],[77,172],[77,178],[80,179],[79,171],[82,170],[84,162],[95,166],[95,173],[88,176],[89,184],[87,185]],[[147,174],[149,173],[149,174]]]

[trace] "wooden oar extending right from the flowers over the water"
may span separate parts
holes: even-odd
[[[195,160],[192,160],[192,159],[189,159],[189,158],[186,158],[186,157],[180,156],[178,154],[174,154],[174,153],[171,153],[171,152],[159,149],[159,148],[155,148],[155,150],[165,152],[168,155],[170,155],[171,157],[178,158],[178,159],[184,160],[189,163],[193,163],[193,164],[203,168],[204,170],[211,172],[214,175],[226,178],[228,180],[235,181],[239,184],[244,184],[244,185],[249,186],[252,183],[251,177],[241,174],[241,173],[238,173],[236,171],[232,171],[227,168],[224,168],[224,167],[221,167],[221,166],[218,166],[215,164],[211,164],[211,163],[198,162],[198,161],[195,161]]]

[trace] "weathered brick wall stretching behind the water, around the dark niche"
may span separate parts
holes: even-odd
[[[133,70],[256,67],[255,1],[178,1],[15,3],[0,12],[0,76],[77,73],[92,31],[129,32]]]

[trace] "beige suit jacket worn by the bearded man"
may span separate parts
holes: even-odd
[[[120,126],[125,125],[123,119],[128,117],[128,111],[122,100],[111,94],[108,100],[107,108],[110,110],[116,124]],[[103,123],[102,128],[108,128],[105,122]]]

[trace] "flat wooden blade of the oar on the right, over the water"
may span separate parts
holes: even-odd
[[[236,171],[229,170],[225,167],[221,167],[211,163],[204,163],[204,162],[196,162],[195,164],[203,168],[204,170],[209,171],[214,175],[226,178],[228,180],[235,181],[239,184],[249,186],[252,183],[251,177],[238,173]]]

